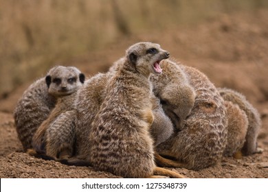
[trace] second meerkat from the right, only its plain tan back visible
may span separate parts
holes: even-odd
[[[247,115],[238,105],[231,101],[224,101],[227,110],[227,145],[223,156],[241,158],[241,149],[245,143],[249,122]]]

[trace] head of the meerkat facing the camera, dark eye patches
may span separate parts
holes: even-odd
[[[49,70],[45,77],[48,93],[51,95],[70,95],[85,82],[85,75],[76,67],[56,66]]]

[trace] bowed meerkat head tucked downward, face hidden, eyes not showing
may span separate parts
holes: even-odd
[[[196,94],[192,87],[183,85],[166,86],[160,93],[161,105],[177,129],[183,127],[183,121],[194,107]]]

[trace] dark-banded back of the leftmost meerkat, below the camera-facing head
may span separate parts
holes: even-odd
[[[14,109],[16,132],[23,149],[32,148],[32,136],[54,108],[56,98],[48,94],[45,77],[34,82],[23,93]]]

